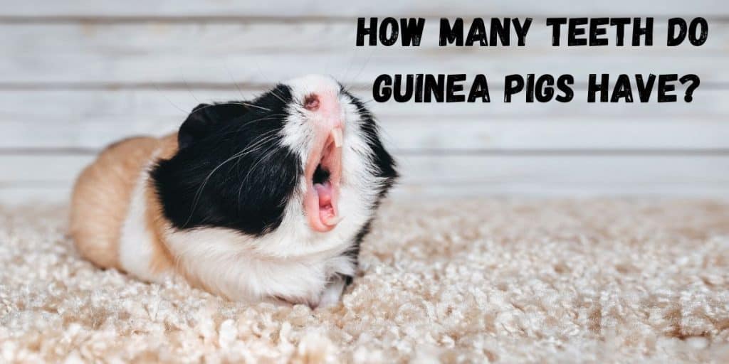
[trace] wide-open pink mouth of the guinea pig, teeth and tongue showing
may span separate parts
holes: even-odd
[[[339,183],[342,173],[342,130],[335,127],[319,143],[306,163],[304,210],[311,229],[329,232],[342,221],[339,214]]]

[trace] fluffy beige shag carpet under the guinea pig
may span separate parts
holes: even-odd
[[[79,259],[0,207],[0,362],[729,363],[729,205],[383,207],[340,306],[246,306]]]

